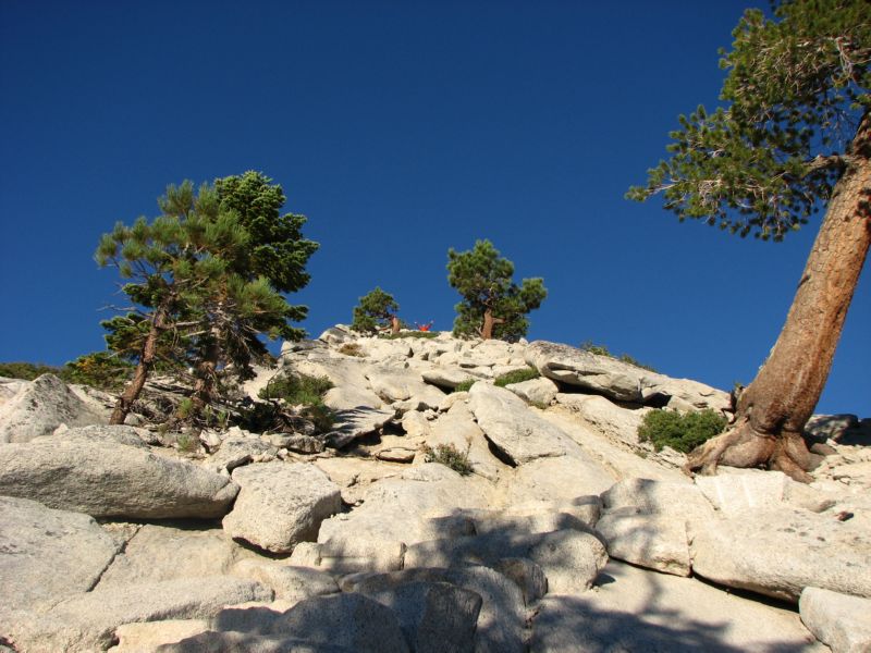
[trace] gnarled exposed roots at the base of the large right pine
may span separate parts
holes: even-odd
[[[813,480],[807,473],[810,455],[799,434],[781,433],[775,436],[760,433],[747,420],[733,424],[725,433],[690,452],[684,471],[690,476],[712,476],[716,473],[719,465],[776,469],[802,483]]]

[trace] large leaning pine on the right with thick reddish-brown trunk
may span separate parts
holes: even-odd
[[[809,480],[801,438],[822,393],[871,244],[871,11],[867,0],[793,0],[738,23],[721,99],[680,116],[671,158],[628,197],[661,194],[683,221],[781,241],[823,204],[786,323],[723,435],[690,471],[719,464]]]

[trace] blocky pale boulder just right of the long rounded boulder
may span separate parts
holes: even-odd
[[[223,519],[224,530],[273,553],[290,553],[298,542],[314,541],[321,521],[342,507],[339,485],[311,465],[241,467],[233,480],[240,493]]]

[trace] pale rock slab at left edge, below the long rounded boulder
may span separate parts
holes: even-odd
[[[9,624],[4,613],[10,611],[35,609],[90,590],[118,550],[88,515],[0,496],[0,624]]]

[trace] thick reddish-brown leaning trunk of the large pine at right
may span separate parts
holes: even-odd
[[[871,120],[866,116],[777,342],[740,395],[731,429],[689,455],[689,471],[713,473],[717,465],[766,467],[810,481],[801,433],[829,377],[871,244],[870,149]]]

